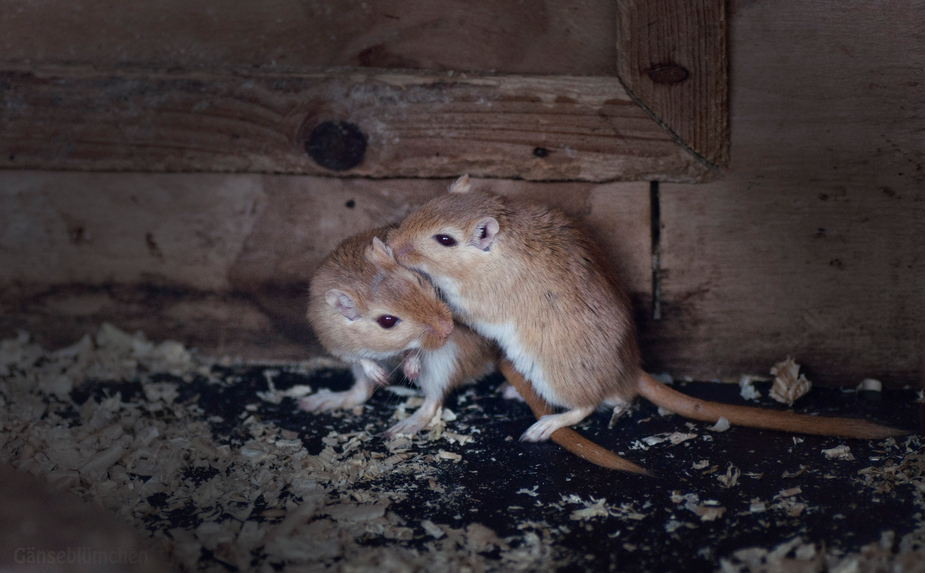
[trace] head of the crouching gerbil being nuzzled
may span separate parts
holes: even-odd
[[[337,266],[312,286],[309,318],[322,343],[334,353],[368,358],[442,347],[453,318],[434,287],[400,266],[378,237],[361,256],[350,261],[356,267]]]

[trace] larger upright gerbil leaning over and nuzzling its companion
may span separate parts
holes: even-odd
[[[864,420],[801,416],[705,402],[672,390],[641,368],[628,297],[596,246],[561,211],[470,189],[424,204],[388,244],[399,263],[426,274],[454,315],[495,340],[549,404],[522,436],[548,439],[602,405],[641,395],[696,420],[786,432],[885,438],[904,432]]]

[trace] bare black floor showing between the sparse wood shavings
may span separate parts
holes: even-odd
[[[240,381],[233,386],[199,389],[199,404],[206,415],[239,419],[239,405],[253,401],[248,394],[266,389],[264,370],[237,370]],[[274,380],[278,389],[306,383],[337,389],[349,383],[345,376],[346,372],[322,371],[306,381],[298,374],[281,372]],[[917,442],[907,448],[902,439],[889,445],[738,427],[718,433],[707,430],[707,424],[662,417],[650,404],[640,405],[613,430],[607,428],[609,416],[603,412],[580,427],[587,437],[660,476],[640,477],[592,466],[554,444],[518,441],[531,415],[525,405],[500,398],[500,383],[499,377],[491,377],[447,402],[459,416],[448,428],[464,428],[462,433],[477,430],[478,439],[464,446],[434,446],[462,456],[459,463],[438,466],[435,479],[445,491],[418,488],[406,500],[392,504],[390,511],[409,522],[430,520],[463,527],[477,521],[502,538],[517,534],[524,523],[545,523],[554,530],[562,571],[712,571],[720,558],[732,559],[739,549],[770,550],[794,538],[836,554],[851,553],[879,541],[884,531],[892,531],[898,540],[921,520],[923,508],[914,503],[911,485],[878,492],[865,485],[866,474],[859,473],[865,468],[899,466],[909,452],[919,451]],[[745,403],[735,385],[681,383],[678,387],[700,398]],[[757,387],[767,395],[769,384]],[[859,394],[814,388],[799,400],[796,410],[864,417],[917,432],[920,410],[915,398],[911,390]],[[362,415],[334,417],[298,412],[287,399],[276,406],[264,404],[259,415],[298,432],[309,452],[317,454],[323,448],[322,438],[332,430],[381,432],[401,401],[383,390]],[[768,398],[756,405],[783,408]],[[215,430],[231,433],[234,428]],[[695,437],[677,445],[642,442],[672,432]],[[853,459],[827,459],[823,454],[840,445],[850,448]],[[718,477],[733,476],[737,470],[736,482],[724,487]],[[408,476],[384,479],[407,480]],[[874,481],[881,489],[893,487]],[[595,510],[598,500],[605,501],[597,503]],[[711,521],[696,513],[711,506],[725,512]],[[574,519],[573,512],[581,509],[588,510],[587,519]]]

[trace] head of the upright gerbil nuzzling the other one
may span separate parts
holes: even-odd
[[[421,271],[445,290],[492,264],[492,249],[506,222],[507,207],[496,195],[474,191],[463,175],[450,192],[425,203],[398,228],[388,243],[396,260]]]

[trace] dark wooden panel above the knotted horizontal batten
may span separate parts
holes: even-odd
[[[0,62],[613,75],[612,0],[4,3]],[[53,33],[48,33],[53,30]]]

